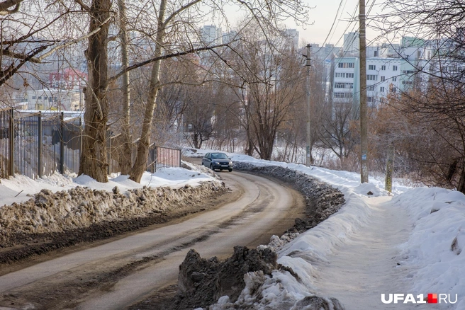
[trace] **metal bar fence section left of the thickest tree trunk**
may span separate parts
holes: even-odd
[[[79,171],[80,117],[63,120],[63,113],[22,113],[0,110],[0,178],[15,173],[29,178],[55,171]]]

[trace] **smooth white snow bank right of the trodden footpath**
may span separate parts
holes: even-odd
[[[393,197],[408,210],[413,233],[400,246],[403,265],[415,267],[414,293],[458,294],[465,309],[465,195],[444,188],[414,188]]]

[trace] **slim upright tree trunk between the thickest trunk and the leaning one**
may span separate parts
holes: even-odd
[[[125,1],[118,0],[118,8],[120,10],[120,38],[121,38],[121,64],[122,70],[128,68],[128,36],[126,34],[126,8]],[[130,134],[130,92],[129,92],[129,72],[125,72],[121,76],[121,92],[123,93],[123,101],[121,110],[123,115],[121,116],[121,133],[123,137],[123,145],[121,145],[121,151],[119,156],[119,166],[121,174],[129,174],[133,166],[131,160],[131,134]]]

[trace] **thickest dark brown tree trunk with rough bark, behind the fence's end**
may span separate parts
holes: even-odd
[[[106,160],[106,122],[108,120],[108,23],[110,0],[93,0],[89,32],[101,28],[89,37],[85,54],[89,66],[89,87],[86,88],[84,135],[82,137],[79,175],[86,174],[98,182],[108,182]],[[103,25],[102,23],[105,22]]]

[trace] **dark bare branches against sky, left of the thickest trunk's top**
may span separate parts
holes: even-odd
[[[27,88],[30,76],[40,79],[27,64],[43,65],[89,35],[79,30],[84,14],[73,2],[3,1],[0,15],[0,86],[21,76],[21,86]]]

